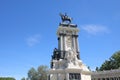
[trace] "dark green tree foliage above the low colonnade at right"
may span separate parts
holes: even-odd
[[[103,71],[118,68],[120,68],[120,51],[114,53],[109,60],[106,60],[99,69],[97,68],[97,70]]]

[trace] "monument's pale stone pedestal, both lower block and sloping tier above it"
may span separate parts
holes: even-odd
[[[65,64],[65,62],[62,63]],[[59,66],[58,68],[50,69],[50,80],[91,80],[91,72],[82,63],[81,60],[79,62],[79,65],[66,63],[67,65],[65,65],[64,67]]]

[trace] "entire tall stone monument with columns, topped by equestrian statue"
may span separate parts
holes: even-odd
[[[76,24],[67,14],[60,14],[62,22],[57,30],[58,48],[53,51],[48,80],[91,80],[91,72],[80,59]]]

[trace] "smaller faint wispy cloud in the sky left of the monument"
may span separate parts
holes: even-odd
[[[40,35],[35,34],[26,39],[28,46],[32,47],[40,42]]]

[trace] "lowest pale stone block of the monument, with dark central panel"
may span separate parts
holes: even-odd
[[[91,72],[82,69],[51,69],[49,74],[49,80],[91,80]]]

